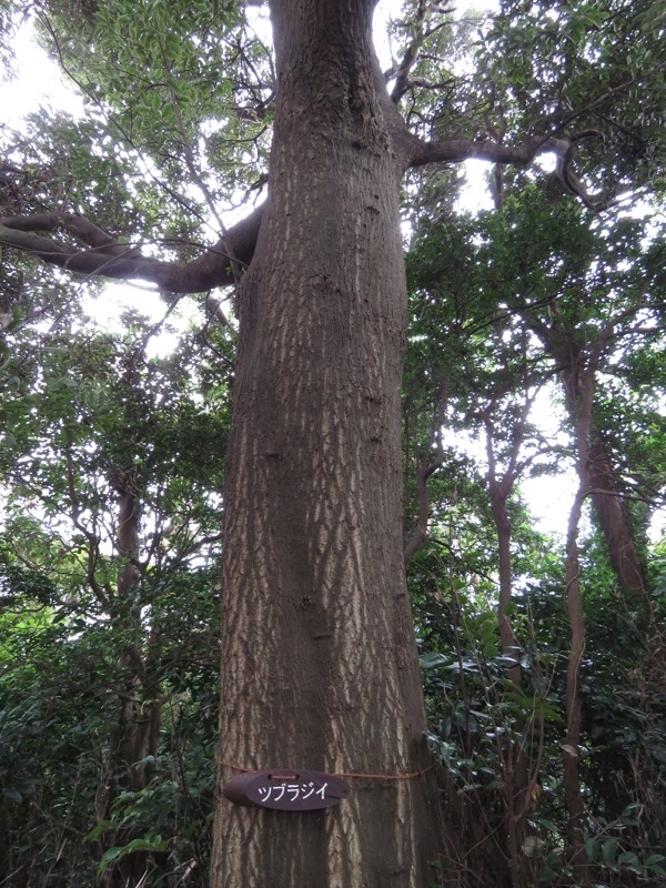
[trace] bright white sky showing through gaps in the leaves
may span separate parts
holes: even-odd
[[[491,8],[493,0],[477,2],[480,7]],[[391,9],[395,8],[395,0],[380,0],[375,22],[385,20]],[[261,30],[261,21],[258,21]],[[265,27],[265,26],[264,26]],[[68,85],[58,67],[50,61],[43,50],[34,43],[32,29],[26,23],[19,31],[16,43],[18,75],[9,83],[1,83],[2,114],[4,124],[21,129],[21,120],[27,111],[43,108],[47,111],[67,111],[74,118],[82,117],[83,103],[77,93]],[[381,37],[377,38],[377,51],[382,64],[391,63],[390,49]],[[491,199],[484,184],[486,164],[472,161],[466,164],[467,184],[460,201],[461,209],[473,211],[482,206],[490,209]],[[152,323],[160,321],[164,313],[164,302],[157,292],[151,292],[150,286],[132,286],[121,283],[109,283],[104,296],[89,300],[84,305],[87,313],[99,325],[111,329],[121,329],[121,315],[128,309],[139,310]],[[178,330],[188,324],[192,312],[200,312],[192,300],[183,301],[179,310],[169,317],[161,334],[153,339],[151,356],[169,354],[178,342]],[[555,434],[557,425],[557,407],[552,397],[544,394],[537,400],[534,411],[534,421],[543,428],[544,433]],[[478,456],[483,453],[483,445],[478,441],[470,440],[465,450],[471,455]],[[566,519],[576,491],[576,481],[572,472],[564,472],[556,476],[542,476],[523,482],[523,494],[537,519],[539,529],[547,533],[564,534]]]

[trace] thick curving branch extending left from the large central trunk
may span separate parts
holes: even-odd
[[[232,256],[229,252],[242,265],[250,264],[261,218],[260,206],[229,229],[223,241],[218,241],[198,259],[184,265],[144,256],[140,248],[119,243],[105,231],[75,213],[41,213],[0,219],[0,243],[32,253],[42,261],[68,271],[117,280],[138,278],[171,293],[199,293],[234,283]],[[64,232],[69,236],[44,236],[39,232]]]

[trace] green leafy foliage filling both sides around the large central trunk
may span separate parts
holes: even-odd
[[[248,8],[53,0],[36,10],[87,114],[41,110],[24,133],[3,131],[1,214],[67,206],[131,246],[192,259],[222,233],[222,210],[253,200],[265,180],[272,58]],[[18,11],[0,10],[9,65]],[[646,566],[652,629],[591,515],[579,541],[575,750],[585,852],[597,885],[666,879],[666,561],[654,543],[666,481],[664,14],[647,0],[504,2],[496,16],[455,21],[410,0],[392,24],[390,82],[414,132],[500,144],[565,134],[581,175],[605,203],[622,199],[595,215],[562,176],[500,167],[494,209],[474,215],[456,208],[450,169],[412,172],[402,194],[404,527],[430,739],[454,786],[446,801],[462,799],[461,833],[481,828],[483,848],[492,839],[512,888],[518,753],[529,775],[519,851],[534,877],[523,885],[579,875],[563,768],[566,527],[536,527],[525,485],[579,467],[591,373],[589,437],[605,447]],[[110,299],[99,284],[4,259],[0,881],[111,885],[138,862],[151,885],[205,885],[233,312],[223,302],[220,322],[210,303],[163,293],[162,320],[134,310],[120,331],[103,331],[81,309]],[[179,312],[176,345],[154,356]],[[539,398],[548,423],[533,410]],[[509,528],[502,608],[497,491]],[[121,541],[129,501],[137,552]],[[128,760],[149,716],[155,736]],[[471,878],[482,871],[475,841]]]

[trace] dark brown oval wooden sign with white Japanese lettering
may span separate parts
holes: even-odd
[[[319,770],[273,768],[233,777],[222,793],[236,805],[255,805],[279,811],[315,811],[331,808],[350,794],[347,784]]]

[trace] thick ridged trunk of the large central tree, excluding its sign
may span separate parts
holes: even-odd
[[[403,165],[372,6],[271,3],[279,105],[240,292],[220,722],[221,785],[239,768],[367,776],[324,811],[220,797],[211,888],[423,888],[441,848],[402,557]]]

